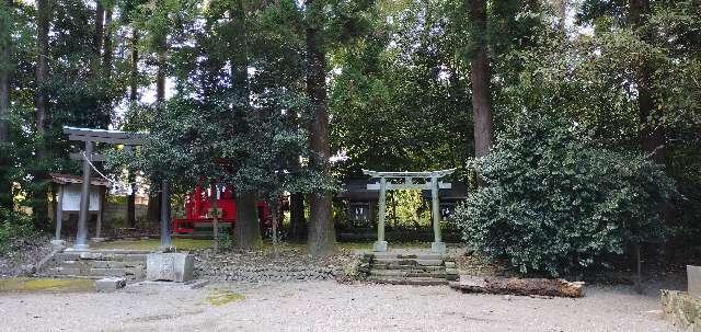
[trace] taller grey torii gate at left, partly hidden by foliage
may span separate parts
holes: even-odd
[[[78,233],[76,236],[76,244],[72,250],[88,250],[88,207],[89,207],[89,187],[90,173],[92,170],[92,161],[104,161],[103,154],[93,153],[95,142],[105,142],[114,145],[124,145],[125,149],[131,150],[136,146],[143,145],[143,140],[148,136],[146,133],[128,133],[118,130],[91,129],[64,127],[64,134],[68,135],[69,140],[85,142],[85,150],[79,153],[71,153],[71,158],[83,160],[82,186],[80,193],[80,213],[78,215]],[[162,183],[163,194],[161,201],[161,248],[171,247],[170,232],[170,191],[168,182]]]

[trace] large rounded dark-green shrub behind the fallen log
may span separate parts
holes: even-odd
[[[455,215],[463,239],[521,273],[556,276],[664,236],[658,207],[671,181],[644,156],[596,147],[573,124],[526,114],[474,169],[486,185]]]

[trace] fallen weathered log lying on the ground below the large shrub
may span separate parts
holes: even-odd
[[[583,297],[584,283],[545,278],[496,278],[461,275],[450,287],[463,293]]]

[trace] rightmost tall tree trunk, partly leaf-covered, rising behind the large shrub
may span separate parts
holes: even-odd
[[[650,14],[650,0],[630,0],[630,16],[633,27],[641,30],[641,37],[647,43],[652,43],[647,15]],[[664,164],[666,160],[665,127],[662,123],[662,114],[655,114],[657,102],[653,93],[654,68],[650,61],[643,60],[637,68],[637,113],[641,122],[641,148],[650,153],[653,160]]]

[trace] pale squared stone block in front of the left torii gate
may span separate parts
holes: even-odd
[[[183,283],[193,278],[195,257],[184,253],[150,253],[146,259],[146,278]]]

